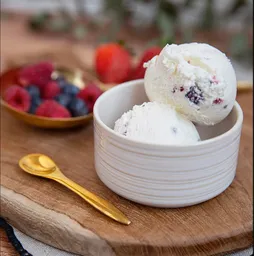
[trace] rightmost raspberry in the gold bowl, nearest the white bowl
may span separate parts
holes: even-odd
[[[102,91],[99,87],[95,84],[89,84],[78,93],[77,97],[82,99],[86,103],[88,111],[92,112],[95,101],[101,94]]]

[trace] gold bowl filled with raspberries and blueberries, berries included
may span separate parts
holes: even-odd
[[[59,70],[50,62],[40,62],[3,73],[2,106],[18,119],[44,128],[87,123],[102,90],[94,83],[77,86]]]

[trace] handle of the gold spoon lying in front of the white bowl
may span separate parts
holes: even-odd
[[[131,223],[128,218],[114,205],[100,198],[99,196],[96,196],[67,177],[54,177],[53,179],[81,196],[83,199],[85,199],[85,201],[108,217],[125,225],[129,225]]]

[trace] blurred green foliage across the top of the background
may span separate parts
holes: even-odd
[[[100,14],[90,16],[87,15],[88,10],[84,5],[87,1],[74,1],[77,15],[72,15],[68,8],[65,8],[63,1],[55,1],[59,3],[57,13],[36,13],[28,21],[29,28],[37,33],[68,34],[75,40],[86,39],[90,34],[88,32],[101,30],[97,38],[98,43],[121,39],[119,34],[126,26],[134,31],[133,35],[136,33],[136,36],[156,31],[155,39],[149,41],[149,44],[164,46],[166,43],[175,42],[176,38],[180,38],[180,42],[190,42],[195,38],[197,31],[213,33],[225,29],[224,25],[237,20],[238,14],[244,11],[241,26],[230,35],[228,48],[234,58],[252,62],[252,0],[227,0],[228,8],[220,14],[217,13],[216,4],[225,0],[91,0],[93,3],[104,5]],[[182,25],[183,13],[195,10],[200,2],[202,9],[198,17],[195,17],[196,22],[187,20],[187,23]],[[150,14],[151,11],[153,14]],[[146,20],[142,19],[142,16]]]

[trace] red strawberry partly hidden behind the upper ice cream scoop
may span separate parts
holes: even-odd
[[[144,78],[145,76],[145,68],[143,67],[144,63],[151,60],[154,56],[159,55],[161,52],[161,48],[158,46],[153,46],[149,49],[147,49],[140,61],[138,62],[138,65],[134,68],[132,75],[131,75],[131,79],[135,80],[135,79],[141,79]]]

